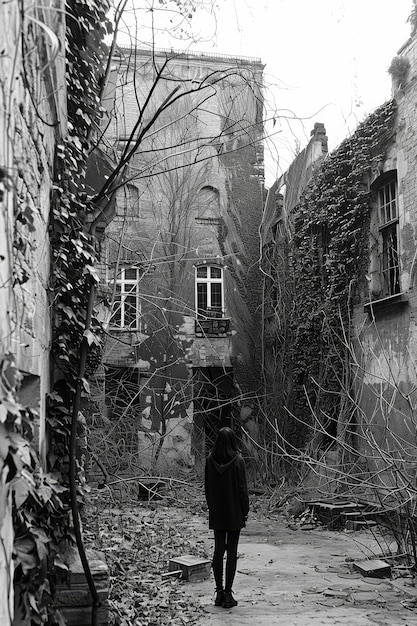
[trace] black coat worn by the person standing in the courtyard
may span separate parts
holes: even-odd
[[[228,463],[216,463],[211,454],[205,467],[209,528],[240,530],[249,512],[245,461],[240,454]]]

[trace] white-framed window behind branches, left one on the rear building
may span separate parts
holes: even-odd
[[[140,330],[140,269],[126,267],[116,279],[110,326],[128,330]]]

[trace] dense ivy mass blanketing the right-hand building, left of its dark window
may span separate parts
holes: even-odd
[[[291,287],[286,297],[292,306],[283,376],[290,392],[279,411],[295,417],[296,427],[285,439],[298,449],[311,439],[313,413],[323,427],[315,446],[328,445],[337,432],[345,401],[341,392],[346,389],[352,305],[366,289],[369,179],[384,157],[395,110],[395,102],[384,104],[322,162],[290,217],[286,281]],[[349,406],[343,410],[348,416]]]

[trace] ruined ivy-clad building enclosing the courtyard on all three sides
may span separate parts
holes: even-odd
[[[4,626],[50,606],[84,480],[74,470],[71,501],[81,385],[135,477],[195,475],[220,425],[263,424],[275,458],[326,468],[323,489],[373,490],[415,520],[415,33],[392,99],[331,154],[316,124],[264,204],[259,59],[118,48],[87,167],[99,4],[0,4]]]

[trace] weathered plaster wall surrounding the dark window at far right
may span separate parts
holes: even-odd
[[[393,96],[398,106],[395,129],[374,179],[384,172],[397,173],[400,293],[380,300],[370,293],[355,307],[353,318],[355,358],[359,365],[359,434],[368,429],[375,437],[374,447],[369,436],[359,436],[358,446],[375,457],[376,468],[380,464],[379,446],[390,453],[399,451],[404,460],[415,460],[417,454],[416,39],[410,39],[399,54],[409,60],[410,69],[400,85],[393,80]],[[370,272],[372,277],[372,264]],[[373,284],[370,280],[371,289]]]

